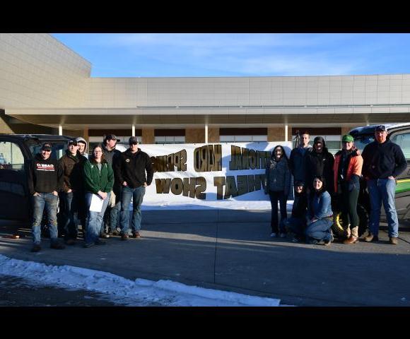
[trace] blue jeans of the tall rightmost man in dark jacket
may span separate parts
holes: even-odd
[[[394,206],[394,194],[396,194],[396,181],[391,179],[368,180],[370,194],[370,233],[379,234],[380,209],[385,208],[387,225],[389,225],[389,237],[399,236],[399,220],[397,219],[396,206]]]

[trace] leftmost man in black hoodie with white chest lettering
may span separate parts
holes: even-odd
[[[48,227],[50,232],[50,247],[64,249],[58,241],[57,207],[58,191],[62,186],[63,173],[56,159],[50,157],[52,145],[43,143],[40,153],[28,164],[28,188],[33,197],[33,249],[41,250],[41,220],[44,209],[47,211]]]

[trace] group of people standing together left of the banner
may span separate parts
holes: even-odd
[[[131,237],[141,237],[141,203],[146,186],[153,180],[151,159],[139,148],[135,136],[129,138],[129,148],[124,153],[115,149],[116,144],[117,137],[109,134],[88,157],[86,140],[73,138],[59,160],[50,157],[51,143],[42,144],[40,153],[28,164],[33,198],[33,252],[41,250],[44,211],[52,249],[76,244],[78,225],[83,228],[86,248],[105,244],[101,238],[110,235],[121,235],[122,240],[127,240],[131,198]],[[102,207],[90,208],[93,201],[100,202],[97,205]],[[58,208],[61,218],[57,222]],[[59,235],[64,242],[59,241]]]

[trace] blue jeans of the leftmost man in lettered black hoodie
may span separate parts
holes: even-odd
[[[57,242],[57,205],[59,198],[52,193],[40,193],[39,196],[33,196],[33,243],[40,245],[41,242],[41,220],[44,209],[47,213],[47,225],[49,227],[49,236],[51,242]]]

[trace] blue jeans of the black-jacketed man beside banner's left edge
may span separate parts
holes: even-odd
[[[121,198],[121,233],[128,234],[129,229],[129,204],[133,201],[131,230],[137,232],[141,230],[141,204],[144,198],[145,187],[139,186],[131,189],[129,186],[122,188]]]

